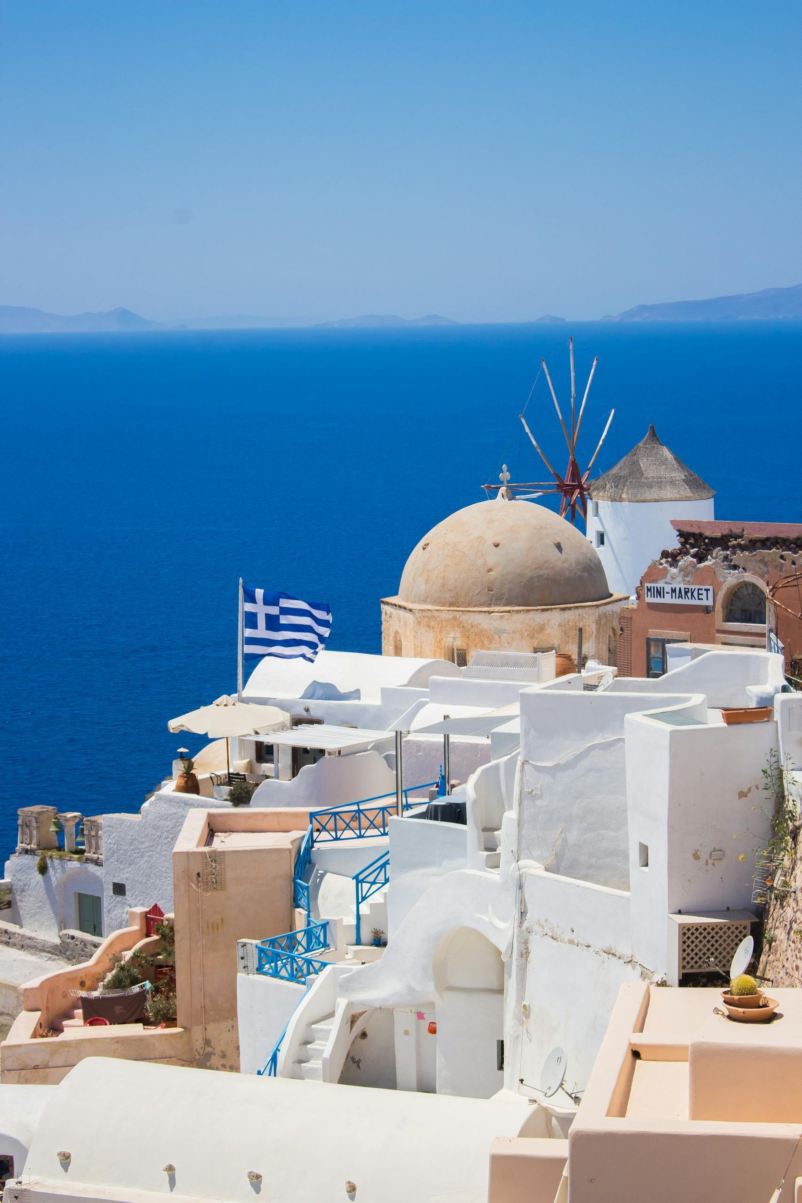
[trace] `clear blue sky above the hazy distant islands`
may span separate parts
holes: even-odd
[[[802,280],[797,4],[0,17],[0,303],[517,321]]]

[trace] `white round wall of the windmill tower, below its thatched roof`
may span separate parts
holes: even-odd
[[[612,593],[630,597],[664,547],[677,546],[672,518],[711,520],[713,498],[701,502],[590,502],[588,539],[599,552]],[[604,546],[598,534],[604,534]]]

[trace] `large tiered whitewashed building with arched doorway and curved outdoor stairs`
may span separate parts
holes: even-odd
[[[726,965],[755,920],[761,772],[772,751],[798,758],[788,745],[802,697],[779,697],[783,685],[778,656],[709,651],[657,680],[522,689],[519,751],[456,795],[467,825],[390,819],[386,899],[370,902],[386,905],[378,959],[315,970],[305,985],[240,973],[243,1068],[277,1050],[279,1077],[541,1097],[560,1048],[568,1094],[548,1110],[570,1118],[619,986],[678,984],[709,956]],[[721,707],[774,700],[784,734],[771,711],[724,722]],[[313,920],[329,918],[320,902],[354,875],[357,843],[320,843]]]

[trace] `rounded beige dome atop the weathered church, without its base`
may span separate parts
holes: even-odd
[[[398,600],[453,610],[575,605],[608,598],[590,543],[531,502],[477,502],[438,522],[406,561]]]

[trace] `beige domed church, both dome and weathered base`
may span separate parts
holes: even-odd
[[[382,599],[381,650],[457,664],[480,650],[575,656],[581,628],[584,654],[613,663],[626,602],[626,594],[610,592],[601,561],[580,531],[501,490],[421,539],[398,594]]]

